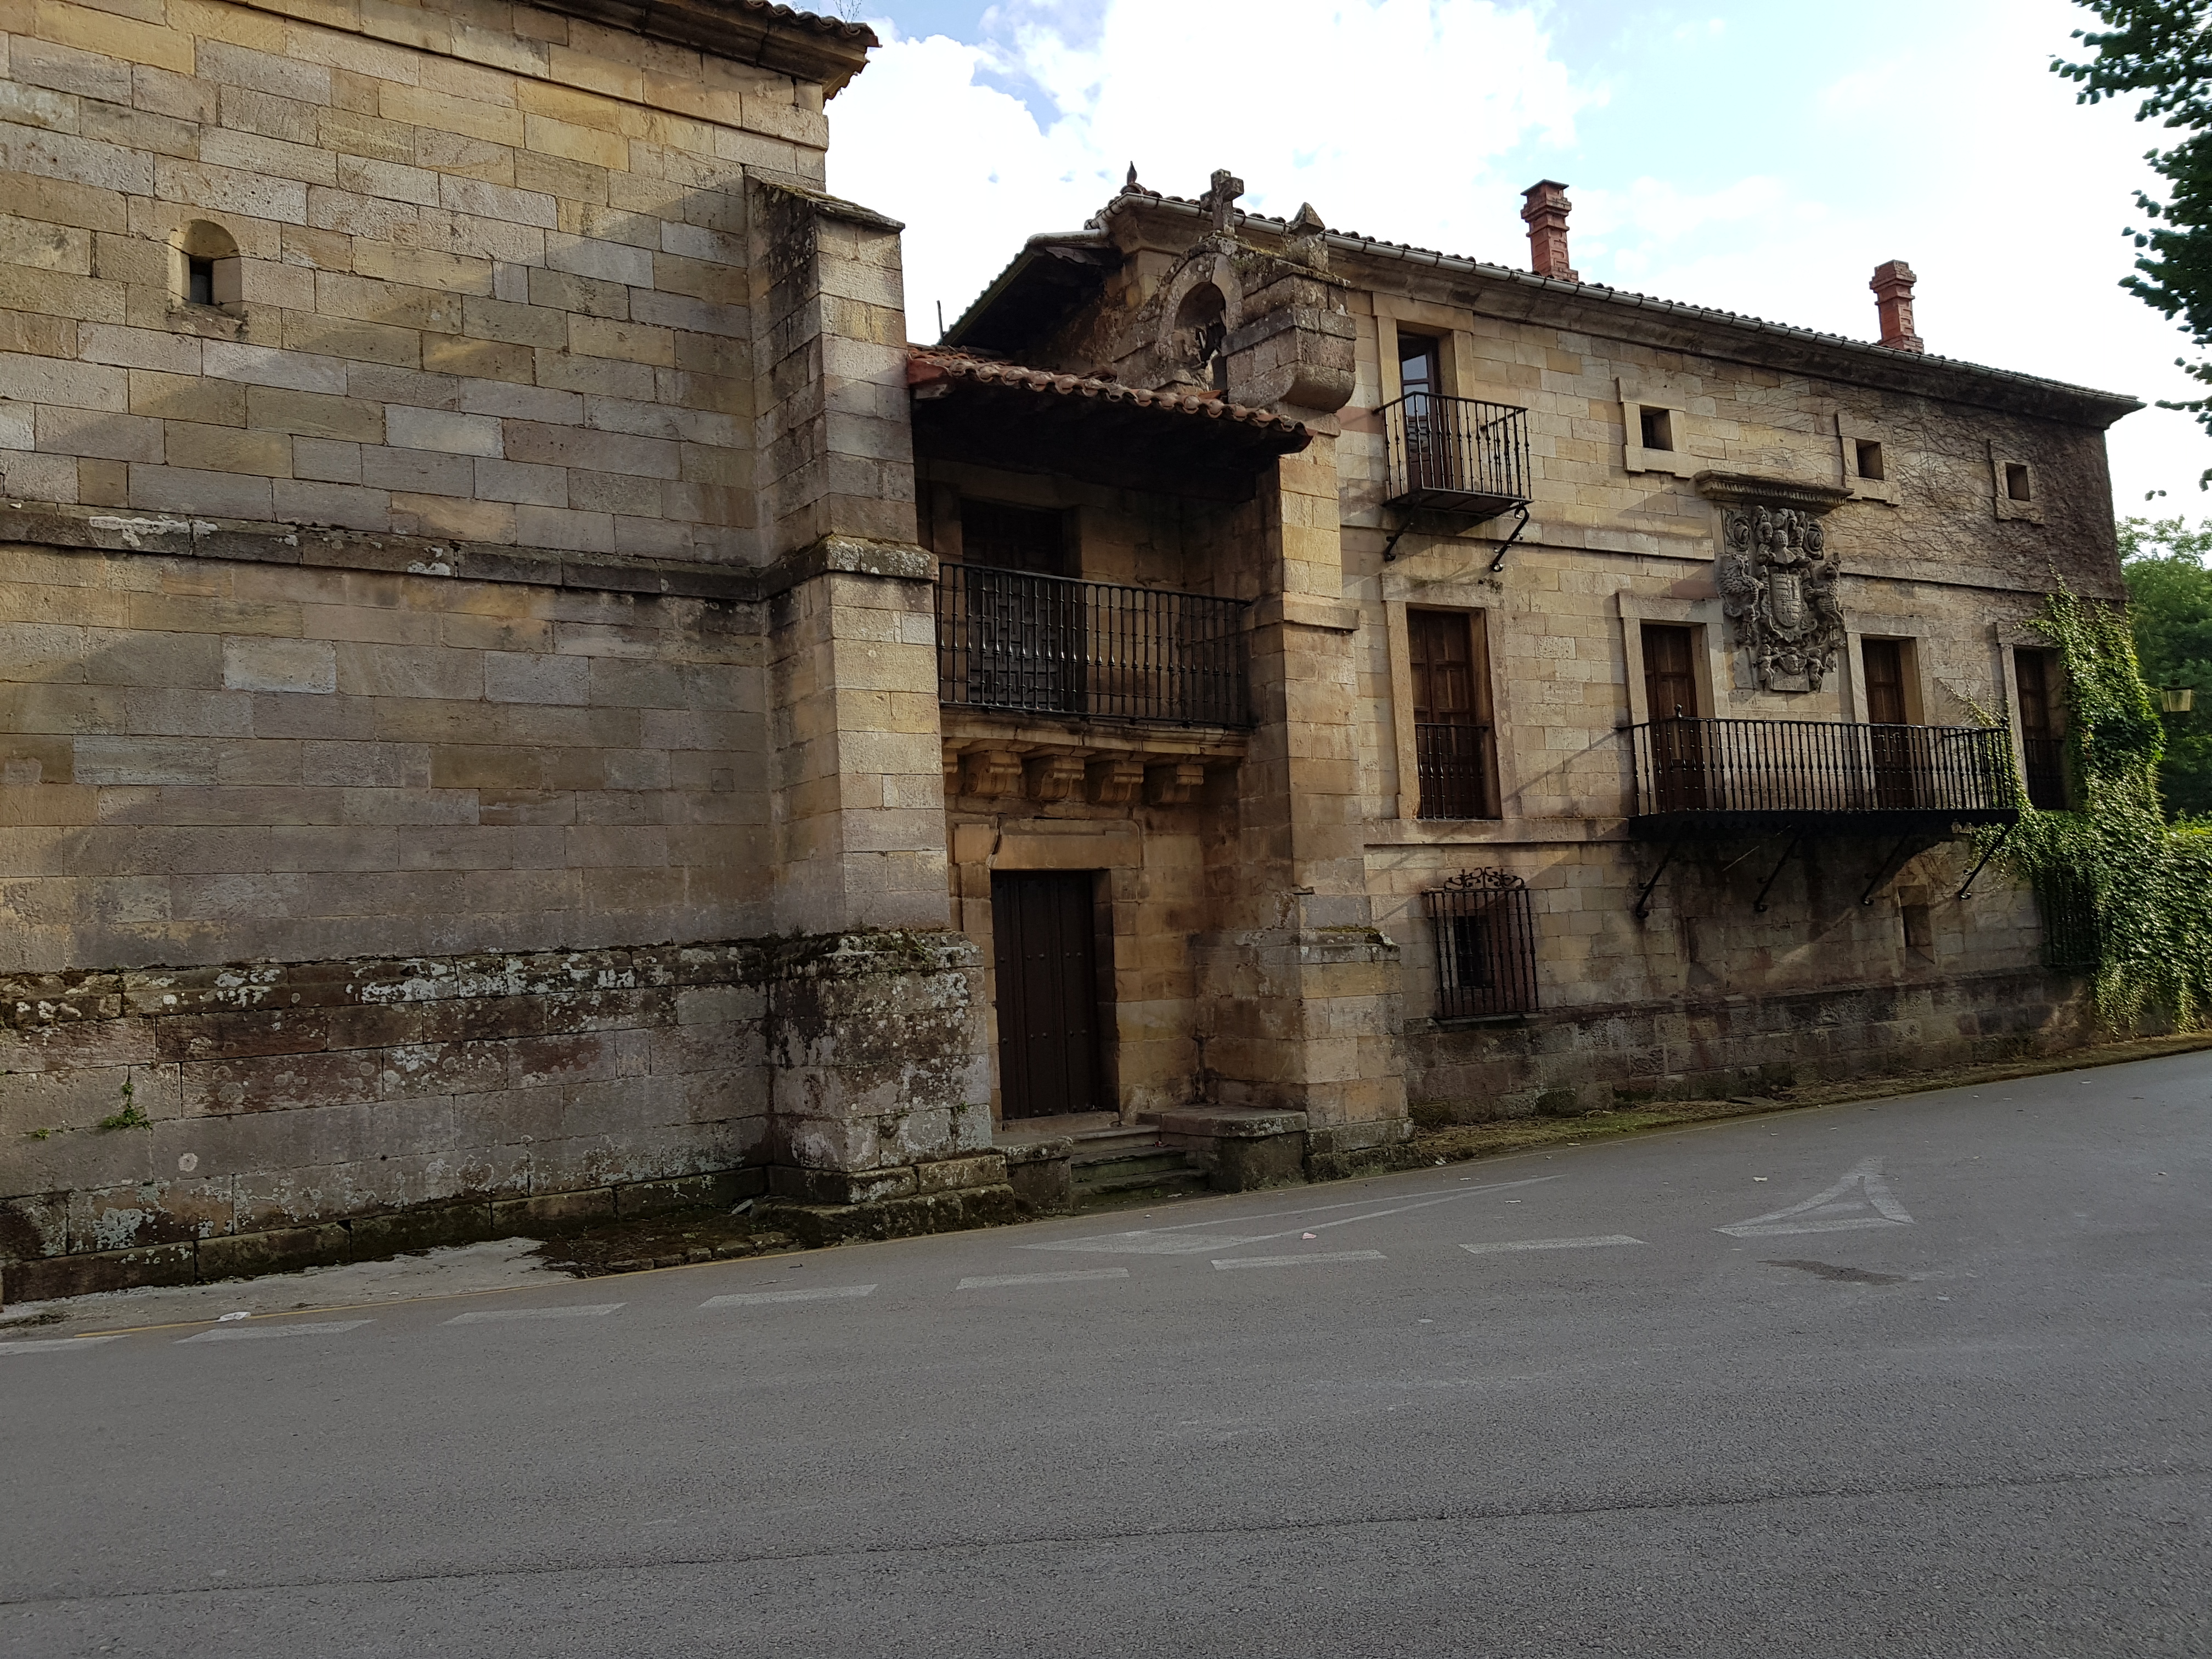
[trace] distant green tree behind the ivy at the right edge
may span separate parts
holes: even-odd
[[[2212,520],[2119,522],[2135,657],[2152,686],[2190,686],[2197,708],[2166,717],[2159,794],[2174,816],[2212,816]]]

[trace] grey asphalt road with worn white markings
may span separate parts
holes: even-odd
[[[2208,1655],[2208,1194],[2183,1055],[18,1336],[0,1652]]]

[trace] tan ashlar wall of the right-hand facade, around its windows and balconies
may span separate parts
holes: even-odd
[[[1960,898],[1973,863],[1960,843],[1823,834],[1792,852],[1787,836],[1705,836],[1674,852],[1639,916],[1668,849],[1628,838],[1624,728],[1650,717],[1646,622],[1699,630],[1708,714],[1865,721],[1863,639],[1887,637],[1907,641],[1913,721],[2008,723],[2008,648],[2033,639],[2042,595],[2055,580],[2115,593],[2101,425],[2035,414],[2033,392],[1905,394],[1743,361],[1719,341],[1701,354],[1632,327],[1608,336],[1595,303],[1573,323],[1515,321],[1478,283],[1451,292],[1449,276],[1380,259],[1363,279],[1338,476],[1347,595],[1363,617],[1367,874],[1376,925],[1405,947],[1418,1110],[1584,1110],[2079,1040],[2077,998],[2039,969],[2033,898],[1991,876]],[[1444,343],[1453,394],[1528,409],[1533,518],[1498,571],[1511,520],[1418,520],[1383,560],[1402,518],[1380,507],[1376,409],[1398,396],[1400,330]],[[1666,411],[1672,451],[1644,447],[1641,407]],[[1860,440],[1880,445],[1882,478],[1860,476]],[[2006,465],[2031,469],[2033,502],[2006,495]],[[1714,580],[1721,515],[1699,471],[1847,491],[1823,529],[1845,571],[1849,637],[1816,692],[1747,679]],[[1480,613],[1498,821],[1416,816],[1409,606]],[[1425,1018],[1436,942],[1420,896],[1467,867],[1531,887],[1544,1013],[1526,1035]]]

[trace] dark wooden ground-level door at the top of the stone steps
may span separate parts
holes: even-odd
[[[993,874],[1000,1113],[1113,1110],[1099,1075],[1095,876]]]

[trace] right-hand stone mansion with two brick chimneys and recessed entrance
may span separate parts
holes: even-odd
[[[1051,1104],[1018,1091],[1055,1046],[1006,989],[1035,978],[1009,872],[1099,872],[1095,1102],[1199,1157],[2077,1042],[2077,982],[1971,832],[2066,801],[2028,619],[2055,582],[2121,597],[2104,429],[2139,405],[1929,356],[1900,261],[1863,343],[1582,283],[1553,181],[1531,270],[1241,215],[1241,188],[1133,173],[916,356],[931,546],[1053,573],[940,588],[1002,1121]],[[1194,476],[1099,489],[1079,418],[933,414],[1009,396],[980,387],[1265,411],[1303,447],[1223,529]],[[1009,555],[1006,504],[1053,529]],[[1245,641],[1241,730],[1175,672],[1206,606]],[[1086,666],[1033,666],[1062,655]],[[1133,745],[1141,805],[1097,787]]]

